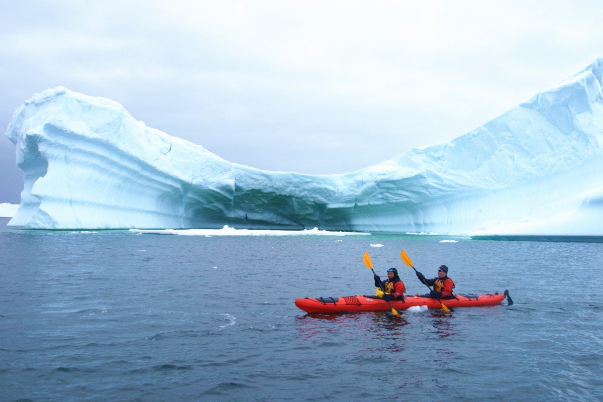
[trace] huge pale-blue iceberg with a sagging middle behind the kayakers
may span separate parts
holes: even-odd
[[[450,141],[339,175],[230,163],[64,87],[17,108],[9,225],[603,236],[603,58]]]

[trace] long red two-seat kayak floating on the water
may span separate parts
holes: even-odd
[[[452,299],[441,299],[447,307],[473,307],[473,306],[493,306],[500,304],[509,292],[504,294],[495,293],[493,295],[455,295]],[[511,304],[511,299],[508,299]],[[404,301],[392,300],[392,306],[396,310],[406,310],[413,306],[427,306],[428,309],[440,309],[439,301],[420,296],[405,296]],[[344,297],[319,297],[315,299],[303,298],[295,299],[295,306],[308,313],[339,313],[346,311],[389,311],[390,304],[387,301],[374,296],[344,296]]]

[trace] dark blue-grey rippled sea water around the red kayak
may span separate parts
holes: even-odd
[[[443,239],[2,229],[0,400],[603,400],[603,244]],[[295,307],[374,292],[364,251],[426,291],[401,249],[515,304]]]

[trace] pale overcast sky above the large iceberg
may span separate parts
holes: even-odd
[[[603,57],[599,1],[0,0],[0,127],[65,86],[231,162],[355,171]],[[0,137],[0,203],[19,203]]]

